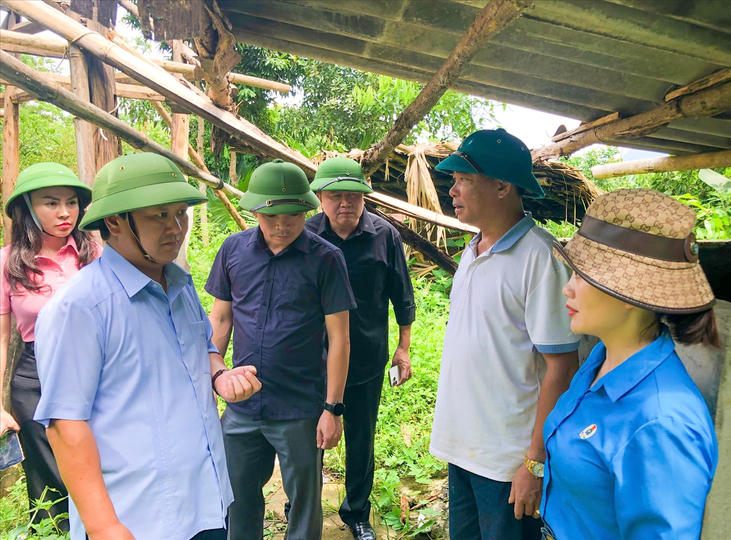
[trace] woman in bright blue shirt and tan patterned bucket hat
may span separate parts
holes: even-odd
[[[556,246],[574,270],[571,329],[602,342],[543,428],[546,539],[700,536],[718,447],[673,342],[719,345],[695,220],[662,193],[618,190]]]

